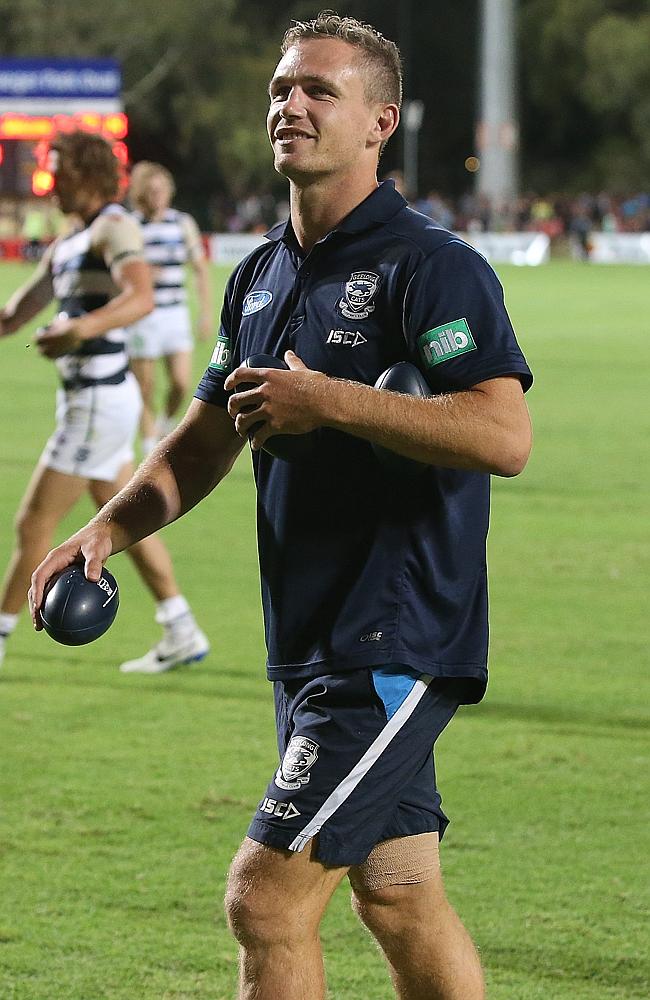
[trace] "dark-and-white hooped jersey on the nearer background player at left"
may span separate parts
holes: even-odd
[[[46,264],[60,312],[83,316],[115,298],[120,289],[111,267],[127,257],[142,258],[142,237],[129,213],[114,203],[106,205],[85,228],[56,240]],[[116,327],[57,358],[64,386],[123,378],[128,366],[125,342],[124,328]]]

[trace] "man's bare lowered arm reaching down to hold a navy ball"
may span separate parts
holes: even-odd
[[[225,410],[192,400],[182,423],[124,489],[37,567],[29,592],[35,628],[41,628],[43,591],[55,573],[83,562],[88,579],[98,580],[110,555],[158,531],[207,496],[228,474],[243,444]]]

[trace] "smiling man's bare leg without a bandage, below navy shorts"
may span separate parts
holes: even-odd
[[[318,928],[347,868],[248,837],[232,863],[226,911],[240,945],[239,1000],[323,1000]]]

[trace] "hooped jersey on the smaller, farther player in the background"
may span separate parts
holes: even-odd
[[[203,254],[196,223],[175,208],[168,208],[160,220],[149,221],[141,212],[134,212],[133,218],[142,230],[145,259],[153,268],[156,309],[184,304],[185,265]]]

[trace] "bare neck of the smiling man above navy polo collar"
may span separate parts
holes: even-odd
[[[315,243],[377,189],[377,178],[361,182],[323,178],[313,184],[291,184],[291,225],[298,243],[309,252]]]

